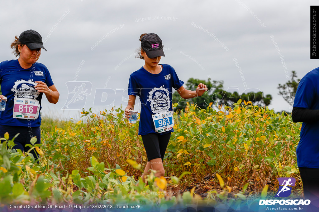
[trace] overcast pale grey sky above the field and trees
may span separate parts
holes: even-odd
[[[103,97],[96,91],[127,89],[130,74],[144,65],[134,56],[139,36],[156,33],[164,44],[160,63],[171,65],[181,80],[211,77],[224,80],[225,89],[256,88],[272,95],[270,108],[289,111],[277,89],[288,80],[284,65],[299,78],[318,67],[318,60],[310,59],[310,5],[318,1],[6,1],[0,7],[0,60],[15,59],[9,48],[14,36],[38,31],[48,50],[38,62],[48,67],[60,92],[56,105],[42,99],[41,113],[77,117],[78,110],[61,108],[75,85],[66,83],[79,66],[76,80],[85,81],[88,90],[92,83],[85,109],[109,109],[93,106],[94,97],[118,103],[127,91]]]

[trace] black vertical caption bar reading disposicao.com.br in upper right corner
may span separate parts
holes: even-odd
[[[310,59],[319,59],[318,16],[319,6],[310,6]]]

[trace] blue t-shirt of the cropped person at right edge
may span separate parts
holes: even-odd
[[[294,107],[319,110],[319,68],[308,72],[299,82]],[[319,168],[319,121],[303,122],[297,146],[298,167]]]

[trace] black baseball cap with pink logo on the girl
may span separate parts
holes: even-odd
[[[141,47],[149,58],[165,57],[162,40],[155,33],[144,35],[141,39]]]

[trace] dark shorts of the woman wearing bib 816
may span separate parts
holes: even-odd
[[[14,149],[21,149],[24,152],[29,151],[30,147],[26,147],[26,144],[31,144],[32,137],[37,137],[36,144],[41,143],[41,129],[40,127],[21,127],[21,126],[6,126],[0,125],[0,138],[4,138],[4,133],[9,133],[9,140],[11,140],[16,134],[20,133],[17,138],[14,139],[16,144]],[[31,144],[32,145],[32,144]],[[34,156],[34,160],[38,159],[39,154],[33,150],[31,152]]]

